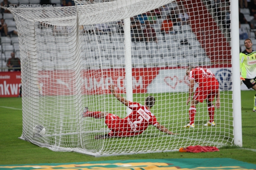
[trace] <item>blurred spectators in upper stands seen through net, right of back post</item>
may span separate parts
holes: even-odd
[[[156,32],[174,35],[177,33],[173,29],[175,25],[189,24],[188,12],[182,8],[181,2],[177,4],[174,8],[167,4],[130,18],[132,41],[157,42]]]

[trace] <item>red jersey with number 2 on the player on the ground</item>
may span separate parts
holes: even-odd
[[[129,102],[132,113],[124,118],[124,129],[136,135],[147,129],[148,125],[157,125],[156,117],[145,107],[136,102]]]

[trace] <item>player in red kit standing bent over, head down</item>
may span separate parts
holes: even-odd
[[[194,128],[194,119],[196,115],[196,105],[199,102],[204,102],[206,100],[208,106],[208,113],[210,120],[205,126],[215,126],[214,122],[214,105],[212,101],[216,96],[216,107],[220,108],[220,90],[219,90],[219,82],[215,78],[215,75],[206,68],[194,68],[190,67],[186,70],[186,75],[189,76],[190,85],[189,85],[189,96],[187,100],[187,105],[189,104],[192,94],[194,92],[194,84],[198,83],[198,87],[194,92],[193,98],[190,103],[189,108],[189,119],[190,123],[184,127],[186,128]]]

